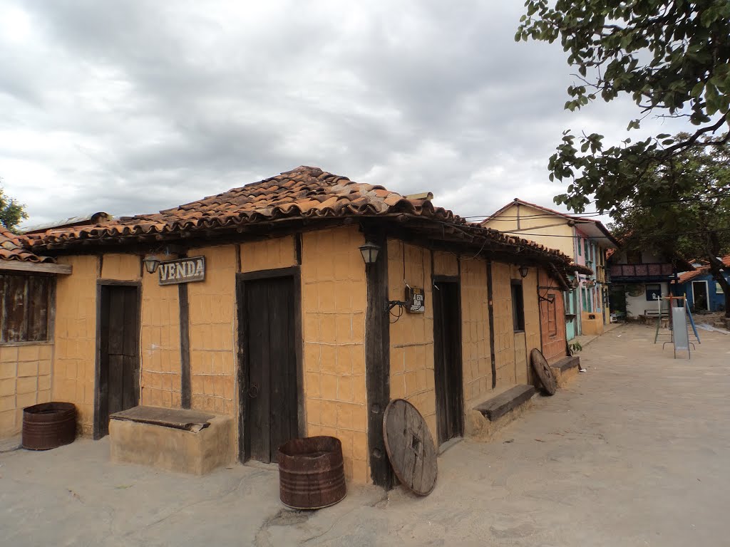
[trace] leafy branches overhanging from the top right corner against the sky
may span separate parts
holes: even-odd
[[[550,158],[550,179],[569,182],[556,203],[583,212],[595,195],[607,211],[656,182],[685,150],[727,142],[730,127],[730,1],[527,0],[515,39],[560,39],[580,83],[568,88],[565,108],[581,109],[599,96],[626,94],[648,115],[683,117],[696,126],[680,139],[658,134],[604,145],[599,133],[565,131]],[[706,138],[706,137],[710,138]]]

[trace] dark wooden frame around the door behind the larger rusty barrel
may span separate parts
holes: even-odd
[[[251,281],[265,281],[266,279],[291,278],[294,285],[294,359],[296,360],[296,416],[297,430],[299,436],[303,437],[307,431],[307,423],[304,414],[304,366],[302,362],[302,338],[301,338],[301,268],[291,266],[289,268],[274,268],[271,270],[257,270],[236,274],[236,317],[237,327],[237,356],[238,356],[238,459],[239,462],[247,461],[245,454],[245,423],[246,423],[246,400],[242,397],[244,389],[247,388],[247,375],[249,364],[246,352],[243,350],[243,341],[248,332],[248,321],[245,316],[245,284]]]

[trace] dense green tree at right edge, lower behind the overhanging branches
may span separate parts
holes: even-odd
[[[689,136],[680,133],[675,140]],[[645,179],[612,210],[615,235],[629,249],[653,248],[707,260],[723,287],[730,317],[730,284],[719,260],[730,254],[730,144],[684,150],[656,164]]]

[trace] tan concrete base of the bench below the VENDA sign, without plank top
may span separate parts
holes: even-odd
[[[109,437],[116,463],[204,475],[234,459],[231,416],[213,416],[198,431],[112,418]]]

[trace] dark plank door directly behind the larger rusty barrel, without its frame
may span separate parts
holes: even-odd
[[[276,462],[279,446],[299,436],[294,280],[243,284],[242,459]]]

